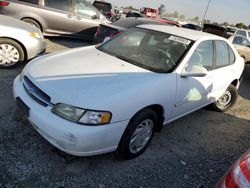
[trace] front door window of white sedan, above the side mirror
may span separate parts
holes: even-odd
[[[188,61],[189,65],[202,65],[207,70],[213,69],[213,42],[203,41],[196,48]]]

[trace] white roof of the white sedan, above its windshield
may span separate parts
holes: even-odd
[[[222,37],[210,34],[210,33],[205,33],[202,31],[195,31],[191,29],[185,29],[185,28],[178,28],[178,27],[171,27],[171,26],[165,26],[165,25],[149,25],[149,24],[144,24],[137,26],[139,28],[145,28],[145,29],[150,29],[150,30],[155,30],[155,31],[160,31],[164,33],[170,33],[173,35],[177,35],[186,39],[190,39],[193,41],[196,41],[201,38],[214,38],[214,39],[223,39]]]

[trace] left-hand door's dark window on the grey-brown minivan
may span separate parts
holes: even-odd
[[[64,12],[71,12],[72,8],[71,0],[45,0],[44,6]]]

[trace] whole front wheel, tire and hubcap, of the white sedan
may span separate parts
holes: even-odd
[[[116,156],[133,159],[141,155],[153,138],[157,123],[157,115],[153,110],[144,109],[138,112],[123,133]]]

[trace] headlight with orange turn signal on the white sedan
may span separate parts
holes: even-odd
[[[56,104],[52,112],[69,121],[86,125],[108,124],[111,119],[110,112],[85,110],[67,104]]]

